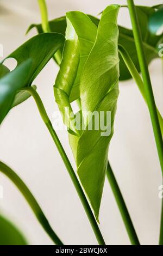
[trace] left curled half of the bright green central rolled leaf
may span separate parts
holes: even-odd
[[[79,11],[66,14],[67,28],[64,51],[59,74],[55,80],[54,94],[61,113],[66,117],[64,123],[69,125],[70,102],[79,98],[79,84],[83,67],[96,39],[97,27],[89,17]],[[68,111],[65,112],[65,107]],[[76,131],[75,131],[76,132]]]

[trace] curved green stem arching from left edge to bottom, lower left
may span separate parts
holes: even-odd
[[[20,190],[20,192],[23,194],[24,198],[26,198],[28,204],[30,205],[30,208],[32,208],[37,220],[42,225],[43,229],[47,232],[47,234],[51,237],[55,245],[63,245],[59,237],[55,234],[53,229],[51,228],[51,225],[48,223],[47,218],[43,214],[43,211],[41,210],[39,204],[37,203],[36,199],[34,198],[33,194],[30,192],[26,184],[20,179],[20,177],[12,170],[10,167],[8,167],[6,164],[0,162],[0,171],[5,174]]]

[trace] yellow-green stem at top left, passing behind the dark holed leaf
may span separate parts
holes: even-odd
[[[38,2],[39,2],[39,7],[40,7],[40,13],[41,13],[42,31],[44,33],[51,32],[51,28],[50,28],[49,22],[48,22],[48,11],[47,11],[47,6],[46,6],[46,1],[38,0]],[[54,54],[54,59],[57,62],[57,64],[60,64],[61,58],[62,58],[61,51],[58,50]]]

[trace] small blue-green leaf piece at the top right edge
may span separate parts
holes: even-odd
[[[163,26],[163,8],[158,9],[149,19],[149,31],[156,34],[156,32]]]

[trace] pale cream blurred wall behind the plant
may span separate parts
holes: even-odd
[[[49,19],[65,15],[70,10],[97,15],[111,3],[126,4],[126,1],[47,1]],[[161,3],[135,0],[137,5]],[[4,57],[35,35],[35,29],[27,36],[25,33],[31,23],[40,21],[36,0],[1,0],[0,43],[4,47]],[[118,23],[131,27],[127,9],[120,11]],[[163,114],[161,60],[153,60],[149,71],[156,103]],[[34,82],[51,119],[53,112],[58,109],[53,97],[57,72],[58,66],[51,60]],[[75,168],[67,132],[57,133]],[[0,127],[0,141],[1,161],[12,167],[26,182],[62,241],[66,245],[96,245],[96,238],[76,190],[32,97],[7,115]],[[120,83],[109,159],[141,244],[158,244],[161,211],[158,187],[161,185],[161,169],[148,109],[133,80]],[[0,211],[17,224],[29,244],[52,245],[26,200],[2,174],[0,185],[3,186]],[[107,245],[130,244],[108,180],[105,181],[99,220]]]

